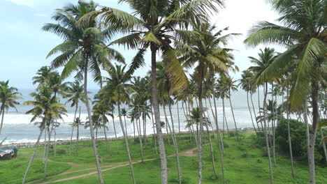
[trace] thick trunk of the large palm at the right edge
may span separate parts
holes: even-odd
[[[310,184],[316,183],[316,173],[314,168],[314,143],[316,141],[317,128],[319,123],[319,107],[317,102],[319,86],[316,81],[312,81],[312,132],[310,133],[310,141],[308,146],[308,160],[309,160],[309,171],[310,171]],[[305,107],[306,111],[306,107]],[[305,112],[306,114],[306,112]],[[306,115],[305,115],[306,116]]]

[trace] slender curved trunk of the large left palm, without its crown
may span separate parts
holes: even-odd
[[[92,122],[92,115],[91,115],[91,107],[89,106],[89,98],[87,96],[87,68],[88,68],[88,61],[86,59],[85,61],[85,73],[84,73],[84,96],[85,96],[85,104],[87,106],[87,114],[89,116],[89,132],[92,139],[92,146],[94,151],[94,159],[96,161],[96,170],[98,171],[99,176],[99,183],[103,184],[103,178],[101,173],[101,166],[99,162],[99,155],[98,155],[98,149],[96,148],[96,141],[94,139],[94,128],[93,128],[93,122]]]

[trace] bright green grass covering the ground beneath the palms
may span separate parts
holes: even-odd
[[[147,145],[144,149],[145,159],[148,158],[159,158],[154,149],[154,141],[149,138],[147,139]],[[208,145],[208,140],[205,139],[205,146],[203,151],[203,183],[222,183],[221,178],[221,167],[217,146],[217,139],[212,139],[214,144],[214,150],[216,155],[216,167],[219,174],[216,177],[212,171],[212,163],[210,157],[210,146]],[[140,148],[138,142],[134,142],[133,139],[129,140],[133,160],[140,160]],[[172,141],[171,145],[166,143],[167,155],[173,155],[175,152],[173,150]],[[194,141],[193,141],[194,142]],[[117,153],[117,146],[119,153]],[[180,151],[187,150],[189,148],[195,147],[195,145],[190,144],[188,136],[182,136],[182,139],[178,141],[178,146]],[[224,155],[224,168],[226,183],[238,183],[238,184],[249,184],[249,183],[269,183],[269,167],[268,158],[265,154],[264,146],[259,146],[256,143],[255,136],[252,133],[245,132],[241,134],[241,140],[239,142],[235,141],[235,137],[224,139],[225,155]],[[54,162],[49,162],[49,174],[58,174],[64,171],[76,171],[79,169],[94,168],[94,157],[90,141],[83,141],[80,143],[80,154],[75,156],[75,149],[73,151],[73,156],[68,155],[68,145],[57,146],[57,149],[62,149],[66,151],[65,154],[58,155],[54,158],[53,152],[50,153],[50,160]],[[74,146],[73,146],[74,148]],[[101,166],[103,169],[109,167],[114,167],[117,162],[128,161],[126,155],[126,148],[124,146],[124,141],[110,141],[110,148],[112,151],[112,156],[108,155],[106,151],[106,144],[103,141],[99,141],[99,154],[103,157],[103,162]],[[27,166],[27,157],[31,154],[31,148],[20,149],[19,158],[9,161],[1,161],[0,169],[0,183],[20,183],[22,174]],[[42,148],[38,151],[38,158],[42,155]],[[168,183],[178,183],[177,168],[175,157],[168,157]],[[68,164],[65,162],[73,162],[75,164]],[[198,174],[198,158],[197,157],[185,157],[180,156],[183,183],[195,184],[197,183]],[[5,164],[5,167],[3,166]],[[20,163],[20,164],[17,164]],[[291,167],[290,160],[284,153],[277,153],[277,166],[273,167],[274,171],[274,181],[280,184],[304,184],[308,183],[308,169],[307,163],[305,161],[296,161],[295,171],[296,178],[291,177]],[[10,167],[11,171],[7,168]],[[133,164],[134,172],[136,175],[136,181],[140,183],[160,183],[160,161],[159,159],[141,162]],[[17,172],[15,171],[17,170]],[[20,171],[18,171],[20,170]],[[33,170],[33,171],[32,171]],[[13,173],[12,171],[15,171]],[[88,174],[95,172],[96,169],[89,169],[87,171],[77,171],[69,174],[61,174],[57,176],[50,176],[40,181],[34,181],[33,183],[41,183],[45,181],[56,181],[61,178],[69,178],[72,176],[80,176],[81,174]],[[316,167],[317,184],[327,183],[327,169],[321,165]],[[20,174],[20,175],[19,175]],[[3,180],[3,177],[5,178]],[[41,160],[38,159],[34,162],[31,172],[29,173],[29,181],[42,178],[43,177],[43,164]],[[13,179],[14,178],[14,179]],[[130,168],[129,166],[119,167],[116,169],[111,169],[108,171],[103,171],[103,179],[106,183],[132,183]],[[75,178],[68,181],[62,181],[58,183],[97,183],[97,174],[92,176],[87,176],[83,178]]]

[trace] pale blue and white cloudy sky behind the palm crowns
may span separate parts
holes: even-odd
[[[131,13],[126,3],[116,0],[95,0],[101,6],[119,8]],[[50,66],[53,57],[46,59],[50,50],[62,43],[53,33],[42,31],[45,23],[53,23],[52,15],[56,8],[62,8],[68,3],[78,0],[0,0],[0,81],[10,80],[10,86],[18,89],[33,89],[31,78],[42,66]],[[255,48],[243,44],[247,31],[260,20],[275,22],[278,15],[271,10],[268,0],[226,0],[226,8],[217,15],[212,15],[210,21],[218,29],[229,27],[226,33],[242,33],[242,36],[231,40],[228,48],[235,49],[233,55],[235,64],[246,70],[251,63],[248,56],[257,56],[261,45]],[[268,45],[269,46],[269,45]],[[136,51],[114,46],[121,52],[129,64]],[[277,47],[277,52],[283,48]],[[145,56],[147,66],[136,70],[135,75],[144,76],[150,70],[150,54]],[[60,68],[59,68],[60,72]],[[240,73],[231,73],[233,79],[240,78]],[[99,86],[89,79],[89,89],[99,89]]]

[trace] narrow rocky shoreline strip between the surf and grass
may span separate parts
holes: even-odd
[[[242,130],[243,132],[249,132],[249,131],[254,131],[253,128],[239,128],[238,130]],[[235,129],[229,129],[229,132],[235,132]],[[210,130],[210,132],[216,133],[216,130]],[[220,132],[223,132],[223,130],[220,129]],[[225,132],[227,132],[225,130]],[[187,135],[191,132],[180,132],[180,133],[175,133],[176,135]],[[167,135],[166,133],[163,133],[163,135]],[[171,135],[171,133],[170,133]],[[153,134],[151,135],[147,135],[147,137],[152,137]],[[142,135],[143,137],[143,135]],[[128,136],[129,139],[133,139],[134,137],[129,135]],[[116,140],[122,140],[124,139],[124,136],[120,136],[117,137],[117,139],[115,137],[108,137],[107,138],[108,141],[116,141]],[[138,137],[136,137],[136,139],[138,139]],[[105,137],[98,137],[97,139],[98,141],[105,141]],[[79,139],[78,141],[91,141],[91,138],[82,138]],[[71,140],[70,139],[57,139],[56,140],[56,145],[64,145],[64,144],[70,144]],[[73,143],[76,142],[76,139],[72,140]],[[48,143],[48,141],[47,141]],[[0,149],[2,148],[34,148],[35,147],[36,142],[17,142],[17,143],[10,143],[10,144],[3,144],[0,146]],[[44,146],[45,142],[44,141],[40,141],[38,147]],[[50,141],[50,145],[54,145],[54,141]]]

